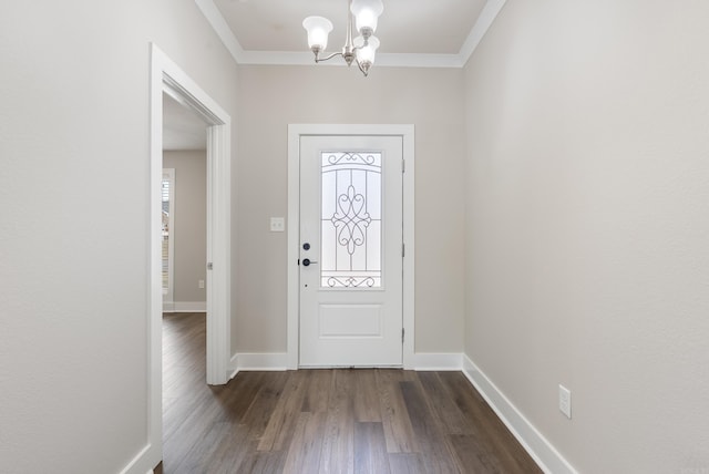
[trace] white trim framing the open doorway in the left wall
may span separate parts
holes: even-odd
[[[148,440],[162,458],[161,181],[163,93],[197,113],[207,133],[207,380],[228,381],[230,358],[230,133],[232,118],[160,48],[151,44],[151,185],[148,289]],[[156,463],[155,463],[156,464]]]

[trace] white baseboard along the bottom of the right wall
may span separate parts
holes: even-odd
[[[463,373],[542,471],[553,474],[577,474],[577,471],[556,451],[552,443],[530,423],[466,356],[463,356]]]

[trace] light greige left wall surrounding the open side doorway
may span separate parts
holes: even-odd
[[[193,0],[1,8],[0,472],[120,472],[146,446],[152,41],[235,115]]]

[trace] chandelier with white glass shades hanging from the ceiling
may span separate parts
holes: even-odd
[[[379,48],[379,40],[373,35],[377,20],[384,10],[381,0],[348,0],[347,37],[342,51],[320,58],[320,53],[328,45],[328,34],[332,31],[332,22],[322,17],[308,17],[302,21],[302,28],[308,32],[308,47],[315,53],[315,62],[342,56],[347,65],[357,62],[359,70],[367,76],[374,63],[374,54]],[[352,24],[359,37],[352,39]]]

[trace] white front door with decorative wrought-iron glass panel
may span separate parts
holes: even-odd
[[[402,137],[300,137],[300,365],[402,364]]]

